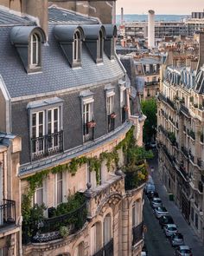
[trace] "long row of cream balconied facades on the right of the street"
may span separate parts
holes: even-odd
[[[203,60],[204,34],[196,51],[169,51],[158,96],[157,143],[163,184],[204,241]]]

